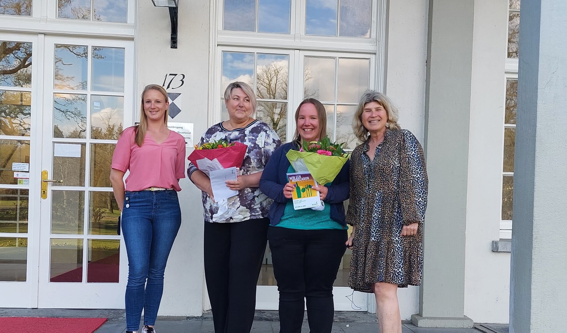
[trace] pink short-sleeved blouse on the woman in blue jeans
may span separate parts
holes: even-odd
[[[134,127],[124,130],[118,139],[112,168],[130,174],[126,178],[126,191],[141,191],[149,187],[174,188],[181,191],[179,178],[185,178],[185,139],[170,131],[166,141],[158,145],[146,134],[141,147],[134,138]]]

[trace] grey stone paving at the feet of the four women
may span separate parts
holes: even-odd
[[[124,310],[0,309],[0,317],[102,317],[108,321],[95,333],[126,331]],[[280,332],[277,319],[277,311],[257,311],[251,333]],[[403,326],[403,333],[481,333],[475,328],[426,328],[409,323]],[[155,328],[159,333],[214,333],[210,313],[202,317],[158,317]],[[355,332],[379,333],[376,317],[366,312],[336,312],[332,333]],[[307,317],[302,333],[309,333]]]

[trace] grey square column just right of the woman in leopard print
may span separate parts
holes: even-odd
[[[464,315],[473,0],[430,0],[425,153],[429,204],[424,226],[420,327],[472,327]]]

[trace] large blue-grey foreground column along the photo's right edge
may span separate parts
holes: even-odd
[[[565,332],[567,2],[523,1],[510,332]]]

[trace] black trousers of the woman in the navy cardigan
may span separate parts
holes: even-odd
[[[346,239],[346,230],[269,227],[274,276],[280,291],[280,333],[301,333],[304,299],[311,333],[331,333],[333,283]]]

